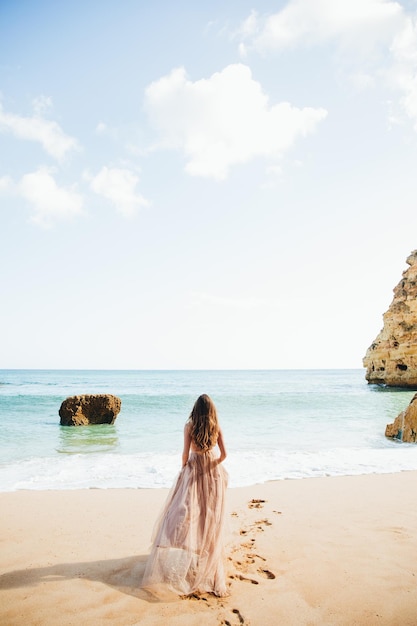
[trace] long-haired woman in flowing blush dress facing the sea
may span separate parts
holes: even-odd
[[[214,453],[218,445],[220,456]],[[184,427],[182,469],[155,527],[142,587],[157,595],[227,595],[223,567],[226,448],[206,394]]]

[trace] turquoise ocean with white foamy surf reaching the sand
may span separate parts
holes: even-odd
[[[114,425],[63,427],[65,398],[111,393]],[[417,469],[417,446],[386,439],[413,391],[364,370],[0,370],[0,491],[170,487],[195,399],[216,404],[231,487]]]

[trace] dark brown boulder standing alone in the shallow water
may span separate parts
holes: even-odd
[[[110,394],[71,396],[59,409],[61,426],[113,424],[120,413],[122,401]]]

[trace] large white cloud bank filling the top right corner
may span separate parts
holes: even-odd
[[[417,14],[399,2],[290,0],[272,15],[252,12],[237,36],[245,57],[332,43],[350,63],[351,84],[388,87],[417,131]]]

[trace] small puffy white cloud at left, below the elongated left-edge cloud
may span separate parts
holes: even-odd
[[[59,187],[51,169],[42,167],[25,174],[17,185],[17,192],[33,207],[33,221],[41,226],[68,219],[82,212],[83,199],[73,188]]]

